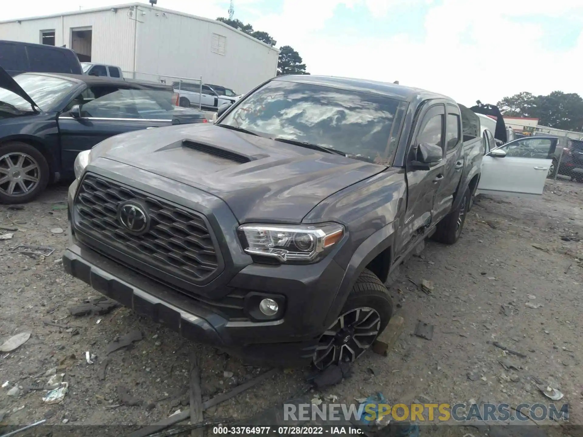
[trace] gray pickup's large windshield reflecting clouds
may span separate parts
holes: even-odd
[[[272,80],[220,123],[377,164],[392,163],[406,103],[373,94]]]

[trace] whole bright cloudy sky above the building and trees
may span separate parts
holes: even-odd
[[[0,19],[115,0],[3,2]],[[158,0],[216,18],[229,0]],[[520,91],[583,95],[583,0],[234,0],[235,18],[291,45],[312,74],[362,77],[471,105]]]

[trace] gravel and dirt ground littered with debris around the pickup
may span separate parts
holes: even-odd
[[[0,423],[47,418],[47,424],[152,424],[188,408],[185,390],[193,351],[201,360],[203,400],[266,371],[181,339],[127,308],[70,316],[69,306],[98,294],[62,270],[60,256],[68,241],[65,196],[66,186],[56,186],[22,210],[0,207],[0,226],[18,229],[0,230],[0,235],[13,233],[12,239],[0,241],[0,343],[31,333],[23,346],[0,354],[0,385],[8,381],[0,389]],[[55,228],[64,232],[55,233]],[[391,404],[415,399],[544,403],[548,400],[528,378],[533,375],[560,389],[561,402],[570,404],[571,423],[583,424],[583,374],[578,371],[583,243],[563,241],[564,235],[583,238],[581,184],[549,181],[536,200],[477,200],[458,244],[428,242],[391,285],[396,315],[405,319],[391,354],[365,354],[351,378],[320,394],[348,403],[376,392]],[[20,244],[51,246],[55,252],[36,259],[9,252]],[[434,284],[429,295],[412,283],[422,279]],[[419,320],[434,325],[433,339],[413,336]],[[143,339],[108,355],[101,379],[107,344],[132,330],[141,330]],[[518,371],[499,364],[502,351],[494,341],[526,355],[506,357]],[[96,355],[94,364],[87,364],[86,351]],[[62,403],[46,404],[46,392],[29,387],[42,387],[55,368],[65,374],[69,392]],[[285,369],[205,411],[205,418],[250,417],[297,393],[308,373]],[[9,396],[14,386],[22,388]],[[118,387],[139,405],[119,406]]]

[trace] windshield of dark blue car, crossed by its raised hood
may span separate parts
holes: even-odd
[[[30,73],[18,75],[13,79],[43,111],[51,110],[54,104],[61,101],[76,86],[76,83],[70,80],[31,75]],[[30,103],[4,88],[0,88],[0,101],[13,105],[22,111],[32,111]]]

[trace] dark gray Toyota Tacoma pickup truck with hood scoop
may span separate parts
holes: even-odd
[[[215,124],[80,153],[64,267],[250,364],[353,361],[391,318],[389,273],[459,238],[483,144],[440,94],[279,76]]]

